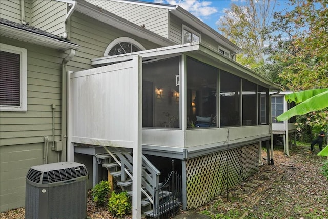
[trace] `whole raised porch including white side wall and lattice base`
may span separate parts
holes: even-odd
[[[124,72],[130,69],[124,63],[136,57],[141,61],[135,71],[131,70],[131,75],[139,74],[139,78],[119,78],[121,74],[118,74],[111,79],[91,79],[100,75],[96,69],[106,66],[121,65]],[[132,127],[140,127],[141,134],[134,135],[134,141],[141,140],[142,155],[160,171],[160,176],[165,177],[172,170],[172,160],[175,161],[174,169],[182,175],[184,208],[208,202],[211,196],[237,185],[258,170],[260,143],[270,140],[269,90],[278,90],[279,86],[202,44],[97,58],[91,64],[95,72],[77,84],[86,85],[92,80],[94,84],[88,84],[87,91],[76,89],[76,83],[71,85],[74,87],[71,105],[76,102],[76,108],[71,109],[81,116],[88,115],[86,123],[81,122],[84,117],[72,116],[69,141],[74,143],[75,153],[95,155],[87,152],[86,145],[137,147],[130,144],[132,134],[129,133],[133,133]],[[74,72],[71,80],[84,74]],[[81,107],[78,103],[95,87],[101,87],[90,97],[97,113],[90,104]],[[139,95],[134,95],[133,87],[139,88]],[[104,89],[113,90],[106,94]],[[125,92],[134,97],[127,101]],[[95,101],[98,98],[103,101]],[[119,104],[122,100],[124,103]],[[105,102],[107,105],[103,106]],[[123,111],[137,113],[138,110],[141,111],[139,122],[134,119],[137,114],[118,120]],[[113,141],[113,133],[120,139]],[[124,138],[128,143],[122,143]],[[218,172],[224,169],[229,169],[229,174],[222,179],[222,173]],[[224,183],[228,181],[229,184]],[[213,190],[210,196],[206,188]]]

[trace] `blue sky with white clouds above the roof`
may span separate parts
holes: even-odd
[[[245,0],[141,0],[146,2],[156,2],[163,4],[179,5],[194,16],[201,19],[202,22],[209,25],[217,31],[217,21],[223,16],[224,10],[230,8],[232,3],[244,5]],[[261,0],[259,0],[261,1]],[[275,11],[282,11],[286,8],[287,0],[277,0]]]

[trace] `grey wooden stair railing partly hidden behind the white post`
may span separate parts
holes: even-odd
[[[126,175],[131,179],[132,168],[133,168],[133,157],[131,152],[127,151],[125,148],[108,147],[103,146],[104,149],[113,157],[115,162],[121,167],[121,181],[126,181]],[[114,153],[112,153],[108,148],[110,148]],[[145,194],[148,200],[154,204],[154,200],[158,203],[158,194],[154,197],[154,188],[159,188],[159,175],[160,172],[157,168],[147,159],[146,156],[142,155],[142,169],[141,169],[141,192]],[[148,191],[148,192],[147,192]],[[150,195],[149,195],[150,194]]]

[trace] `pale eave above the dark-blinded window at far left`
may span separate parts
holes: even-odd
[[[58,49],[61,51],[66,51],[68,49],[79,50],[80,48],[80,46],[76,44],[60,41],[45,35],[10,27],[4,24],[0,24],[0,36],[17,39],[18,41],[45,46],[48,48]]]

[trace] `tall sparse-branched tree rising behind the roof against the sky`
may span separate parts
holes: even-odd
[[[242,49],[237,61],[251,69],[264,64],[262,49],[271,34],[275,2],[248,0],[242,6],[233,3],[219,21],[218,29]]]

